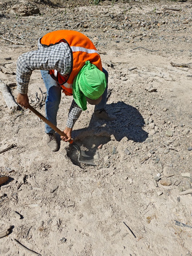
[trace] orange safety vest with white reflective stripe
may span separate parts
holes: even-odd
[[[102,71],[101,58],[91,40],[77,31],[57,30],[44,35],[40,39],[40,44],[44,47],[50,47],[61,42],[67,43],[70,47],[71,72],[67,76],[62,76],[56,70],[50,70],[49,74],[57,77],[57,82],[66,95],[72,95],[73,80],[85,65],[85,61],[90,61]]]

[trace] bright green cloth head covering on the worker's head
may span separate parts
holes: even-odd
[[[106,86],[105,74],[90,61],[86,61],[73,81],[73,98],[82,110],[86,110],[85,96],[91,100],[97,100],[104,93]]]

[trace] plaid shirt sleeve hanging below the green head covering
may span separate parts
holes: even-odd
[[[73,128],[75,122],[79,118],[80,114],[82,112],[82,109],[77,105],[77,103],[73,100],[71,103],[71,107],[69,110],[68,114],[68,119],[67,119],[67,127],[68,128]]]

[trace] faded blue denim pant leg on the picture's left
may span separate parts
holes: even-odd
[[[45,102],[45,117],[57,126],[57,111],[61,101],[61,87],[58,85],[47,70],[41,70],[41,75],[47,90],[47,98]],[[54,130],[45,124],[45,133],[53,133]]]

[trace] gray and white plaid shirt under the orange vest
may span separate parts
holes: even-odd
[[[71,51],[66,43],[43,47],[38,40],[38,50],[27,52],[17,60],[17,91],[28,92],[28,84],[33,70],[57,70],[62,76],[70,73]],[[73,100],[67,119],[67,127],[73,128],[82,109]]]

